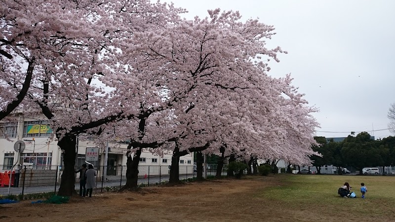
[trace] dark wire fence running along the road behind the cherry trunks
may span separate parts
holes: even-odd
[[[56,193],[59,190],[62,166],[18,166],[0,165],[0,195],[19,195],[21,198],[34,198],[39,193]],[[126,184],[126,166],[99,166],[96,171],[96,185],[93,194],[116,191]],[[226,166],[222,175],[226,175]],[[76,169],[78,170],[78,169]],[[169,166],[139,166],[138,185],[159,185],[169,180]],[[215,176],[217,165],[207,165],[207,175]],[[79,192],[79,173],[76,175],[75,189]],[[179,179],[197,176],[196,166],[179,166]],[[38,195],[36,195],[37,197]]]

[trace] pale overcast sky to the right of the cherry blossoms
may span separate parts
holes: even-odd
[[[394,136],[381,129],[388,128],[395,103],[395,0],[162,1],[186,8],[188,19],[221,8],[274,25],[277,35],[268,44],[288,54],[279,55],[269,74],[291,73],[299,92],[320,110],[314,115],[321,124],[317,136]]]

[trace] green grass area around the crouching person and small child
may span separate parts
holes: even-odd
[[[278,185],[262,189],[256,197],[280,202],[284,210],[308,209],[327,216],[347,212],[349,219],[371,217],[391,221],[395,217],[395,177],[284,174],[278,177]],[[337,194],[345,182],[353,187],[356,198],[342,198]],[[368,189],[366,199],[361,198],[362,182]]]

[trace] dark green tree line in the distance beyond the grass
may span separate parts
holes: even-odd
[[[381,166],[384,172],[385,166],[395,165],[395,137],[392,136],[373,140],[367,132],[356,136],[352,132],[342,142],[327,140],[325,137],[315,137],[315,140],[319,146],[313,146],[313,150],[322,154],[322,157],[311,157],[318,174],[324,165],[334,165],[339,169],[353,166],[359,174],[362,174],[364,167]],[[338,172],[341,173],[340,170]]]

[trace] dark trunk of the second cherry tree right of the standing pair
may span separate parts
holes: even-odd
[[[121,189],[119,189],[119,191],[138,189],[137,181],[139,176],[141,150],[142,148],[137,148],[133,155],[133,158],[131,155],[128,155],[126,160],[126,184]]]

